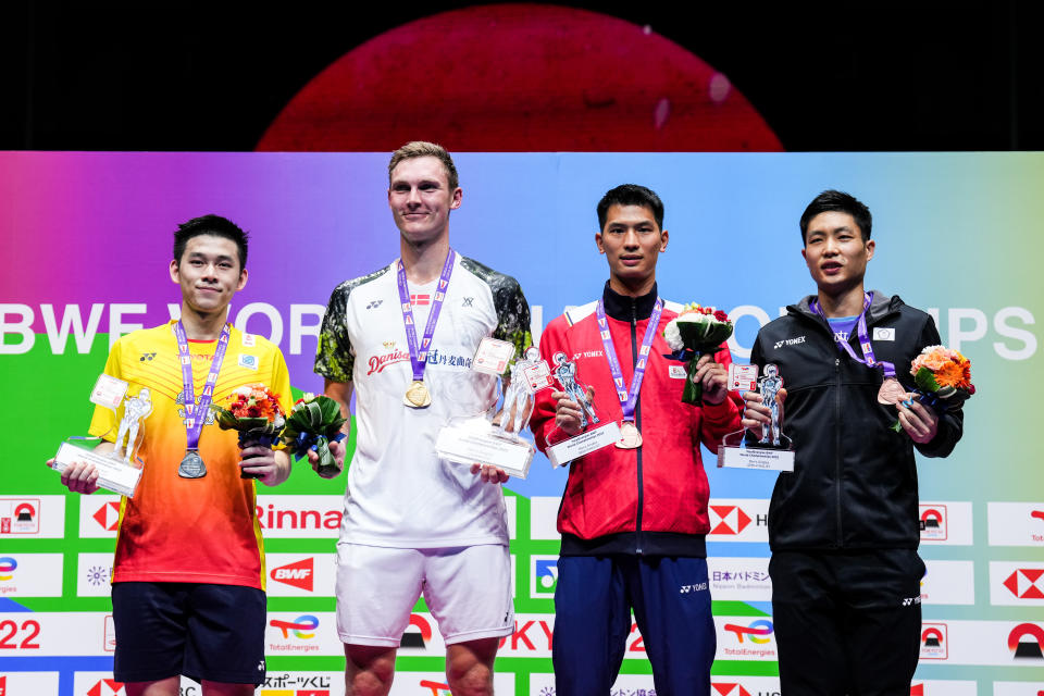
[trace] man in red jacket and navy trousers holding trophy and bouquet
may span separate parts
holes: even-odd
[[[609,261],[602,297],[555,319],[540,339],[549,364],[564,353],[576,380],[591,387],[600,423],[586,427],[617,421],[624,435],[570,465],[558,515],[556,689],[609,693],[633,609],[657,693],[707,695],[717,641],[699,446],[716,449],[741,427],[728,398],[729,350],[700,359],[694,381],[704,387],[703,406],[683,403],[685,359],[663,339],[681,307],[661,300],[656,288],[657,258],[668,241],[663,203],[644,186],[618,186],[598,203],[598,224],[595,244]],[[581,413],[563,391],[538,398],[531,421],[537,445],[546,449],[580,434]]]

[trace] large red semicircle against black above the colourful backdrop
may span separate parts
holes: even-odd
[[[540,4],[444,12],[349,51],[290,100],[258,150],[781,151],[699,58],[623,20]]]

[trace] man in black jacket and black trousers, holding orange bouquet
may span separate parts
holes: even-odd
[[[873,258],[865,204],[823,191],[801,215],[818,293],[758,333],[750,361],[778,365],[793,473],[769,507],[772,611],[784,696],[908,696],[920,651],[916,447],[946,457],[962,413],[907,400],[910,362],[939,345],[935,323],[863,289]],[[760,437],[769,409],[744,395]],[[898,420],[899,432],[890,426]]]

